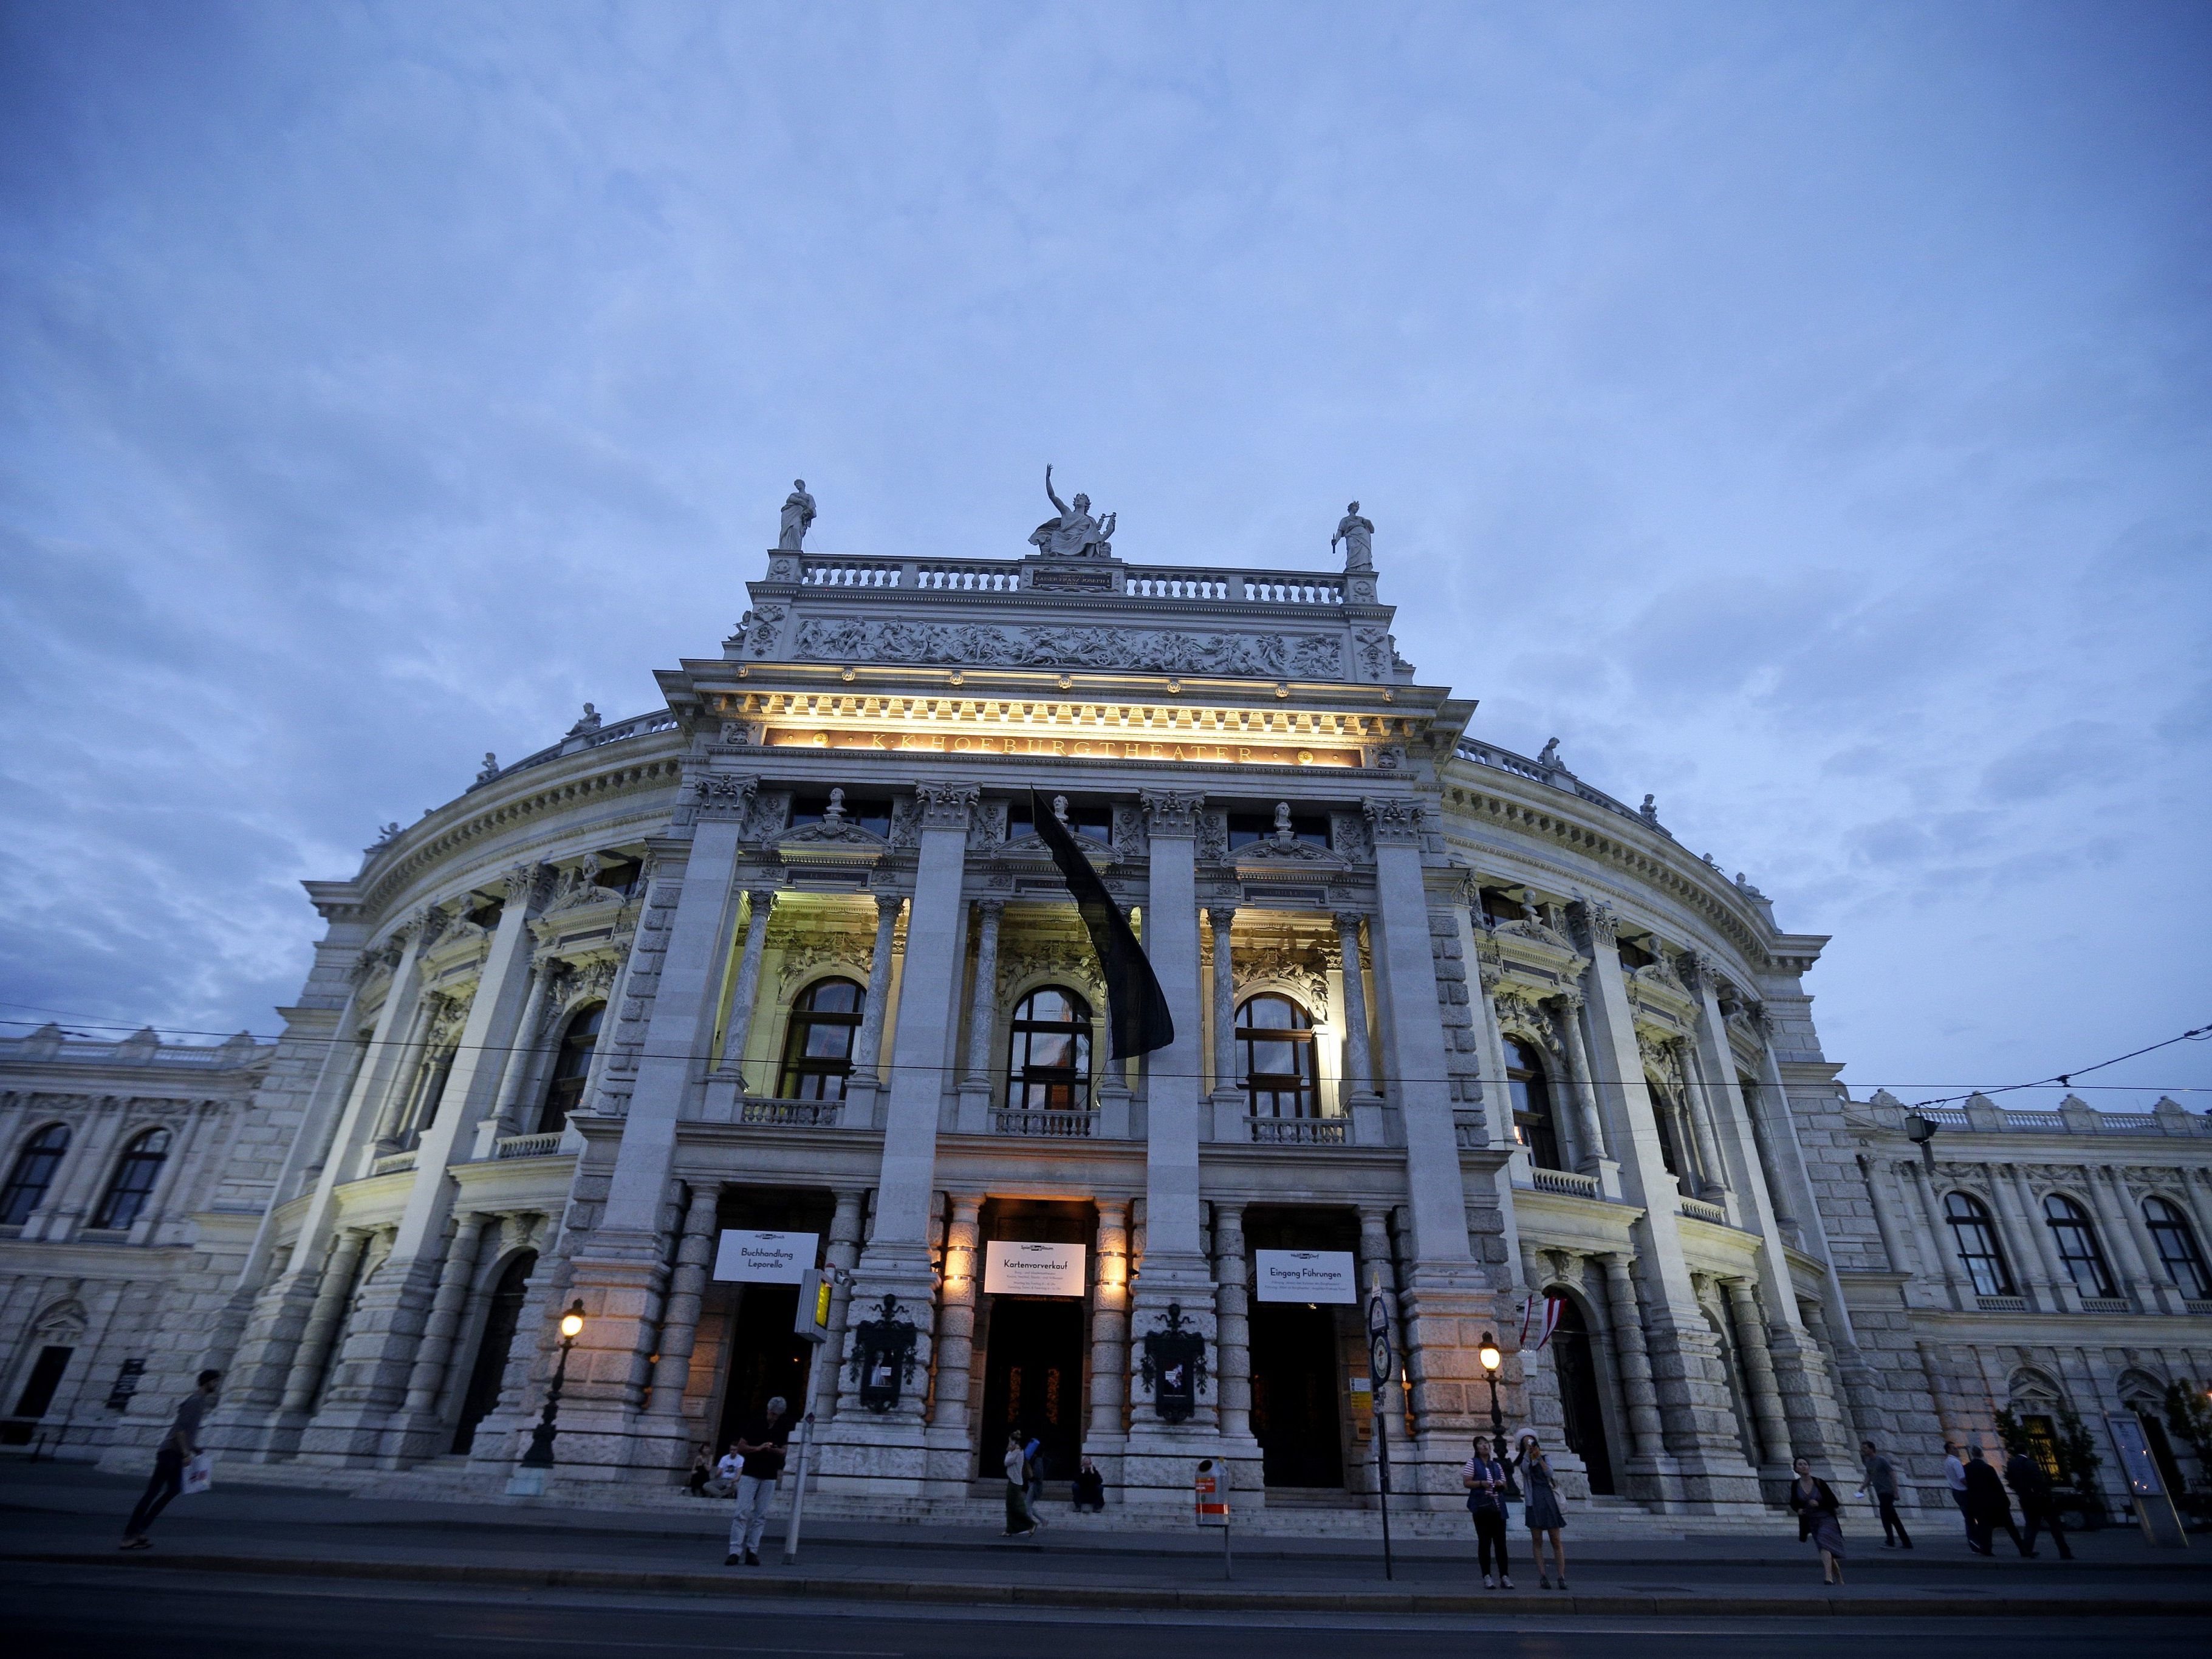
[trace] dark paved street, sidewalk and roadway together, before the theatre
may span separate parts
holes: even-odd
[[[1210,1537],[1055,1526],[1042,1546],[956,1526],[825,1524],[796,1568],[726,1568],[726,1504],[584,1511],[363,1500],[226,1482],[179,1500],[157,1551],[117,1555],[137,1482],[75,1464],[0,1467],[0,1610],[22,1652],[500,1652],[743,1646],[757,1652],[1084,1659],[1141,1639],[1219,1659],[1279,1648],[1285,1630],[1365,1630],[1391,1652],[1464,1652],[1469,1630],[1509,1650],[1597,1652],[1635,1630],[1648,1652],[1829,1650],[1931,1637],[1958,1655],[2051,1635],[2028,1615],[2093,1613],[2108,1641],[2141,1624],[2141,1655],[2201,1648],[2201,1619],[2128,1619],[2137,1606],[2212,1613],[2212,1557],[2154,1553],[2135,1528],[2077,1540],[2081,1559],[1969,1557],[1955,1528],[1911,1555],[1860,1548],[1825,1593],[1787,1522],[1772,1535],[1571,1542],[1573,1597],[1484,1593],[1471,1542],[1409,1544],[1385,1582],[1371,1540],[1248,1537],[1223,1584]],[[1940,1517],[1931,1517],[1940,1520]],[[1573,1540],[1573,1522],[1571,1522]],[[1522,1540],[1517,1540],[1522,1542]],[[1022,1597],[1029,1606],[1018,1606]],[[1046,1606],[1037,1606],[1046,1604]],[[1971,1608],[1975,1617],[1958,1617]]]

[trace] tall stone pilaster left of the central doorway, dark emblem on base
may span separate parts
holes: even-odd
[[[823,1489],[880,1498],[922,1498],[929,1482],[929,1425],[922,1418],[933,1349],[938,1121],[960,1020],[962,880],[967,841],[982,792],[973,783],[916,785],[920,852],[914,909],[907,914],[907,964],[891,1037],[891,1093],[883,1110],[883,1166],[876,1228],[854,1267],[845,1352],[838,1356],[838,1409],[823,1436]],[[914,1327],[911,1369],[900,1371],[898,1405],[860,1407],[858,1327],[885,1321]]]

